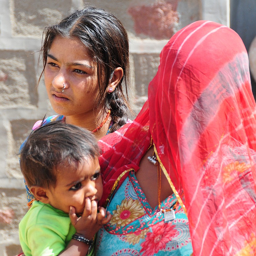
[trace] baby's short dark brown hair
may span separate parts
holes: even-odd
[[[81,127],[54,121],[39,127],[20,151],[20,168],[27,186],[55,187],[59,166],[95,160],[99,147],[94,135]]]

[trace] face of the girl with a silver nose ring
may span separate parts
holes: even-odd
[[[99,112],[95,108],[99,94],[97,65],[78,38],[56,37],[53,40],[47,55],[44,81],[56,113],[79,117]]]

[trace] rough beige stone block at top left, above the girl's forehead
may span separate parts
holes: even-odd
[[[72,7],[71,0],[11,0],[10,3],[13,35],[22,37],[41,38],[44,27],[58,23]]]

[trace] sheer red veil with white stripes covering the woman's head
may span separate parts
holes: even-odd
[[[162,50],[137,118],[99,141],[101,202],[152,136],[174,192],[184,191],[193,255],[256,255],[255,110],[241,38],[211,21],[186,26]]]

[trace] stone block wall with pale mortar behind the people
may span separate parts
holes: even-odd
[[[206,19],[228,25],[226,1],[89,0],[125,25],[131,48],[132,94],[136,113],[147,99],[159,54],[168,39],[189,23]],[[0,255],[19,252],[18,224],[27,211],[18,152],[31,127],[52,111],[42,80],[38,50],[45,26],[57,23],[82,0],[0,0]],[[214,6],[214,11],[212,11]],[[226,15],[225,15],[226,14]],[[143,19],[142,19],[143,17]],[[153,21],[153,22],[152,22]],[[153,24],[153,25],[150,25]]]

